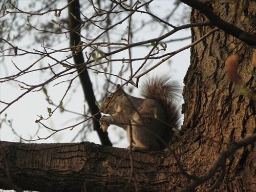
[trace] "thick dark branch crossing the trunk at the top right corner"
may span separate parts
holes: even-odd
[[[225,22],[221,19],[214,11],[212,11],[206,4],[197,1],[197,0],[180,0],[182,3],[193,7],[203,13],[212,23],[212,25],[222,29],[226,33],[237,37],[238,39],[244,41],[247,45],[256,48],[256,36],[250,33],[247,33],[237,26],[234,26],[230,23]]]

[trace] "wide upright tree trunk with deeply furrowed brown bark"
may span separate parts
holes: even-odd
[[[244,3],[247,2],[248,6]],[[255,1],[211,1],[208,6],[226,22],[255,34]],[[208,19],[193,9],[191,23]],[[191,29],[192,41],[207,34],[212,27]],[[252,63],[253,49],[241,40],[218,31],[191,49],[190,67],[184,79],[183,131],[199,132],[219,142],[233,142],[255,133],[256,80]],[[234,86],[226,74],[225,60],[231,54],[239,56],[238,73],[246,94]],[[199,176],[227,148],[199,135],[178,134],[177,154],[190,174]],[[175,145],[175,143],[174,143]],[[216,191],[255,191],[255,143],[241,148],[226,161],[226,175]],[[218,174],[216,175],[217,178]],[[216,180],[213,178],[198,188],[206,191]]]

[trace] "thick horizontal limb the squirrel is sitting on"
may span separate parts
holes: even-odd
[[[167,178],[172,174],[167,172],[178,170],[168,152],[134,152],[136,176],[133,180],[129,151],[125,149],[89,142],[1,141],[1,146],[0,162],[5,167],[9,164],[12,182],[23,190],[134,191],[136,182],[140,191],[161,191],[170,187]],[[7,178],[6,173],[2,169],[1,177]],[[1,188],[10,189],[3,183]]]

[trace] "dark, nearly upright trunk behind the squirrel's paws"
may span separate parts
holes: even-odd
[[[68,0],[68,3],[72,2]],[[71,14],[72,13],[72,14]],[[70,32],[70,45],[77,46],[81,41],[79,36],[80,33],[80,5],[79,1],[75,0],[73,3],[69,5],[69,28],[72,30]],[[76,50],[73,50],[75,53]],[[80,63],[84,63],[84,58],[81,51],[78,51],[77,54],[74,55],[75,64],[78,65]],[[84,97],[86,98],[89,108],[91,110],[92,115],[99,112],[98,106],[95,105],[95,95],[92,88],[92,82],[90,80],[89,74],[87,69],[78,69],[79,78],[82,84]],[[101,115],[98,114],[95,119],[93,120],[94,130],[97,131],[100,141],[103,145],[112,146],[112,143],[109,140],[108,133],[103,132],[100,129],[100,125],[98,120],[100,119]]]

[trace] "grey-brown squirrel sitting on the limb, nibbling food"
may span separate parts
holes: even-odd
[[[122,127],[129,141],[132,131],[133,151],[162,151],[180,126],[180,92],[178,82],[170,77],[148,79],[142,86],[145,99],[125,93],[117,84],[102,103],[102,112],[110,116],[103,115],[100,126],[103,131],[110,124]]]

